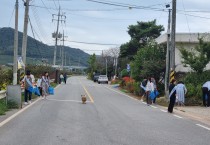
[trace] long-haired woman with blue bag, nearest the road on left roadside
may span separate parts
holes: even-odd
[[[50,86],[50,77],[48,72],[44,73],[44,76],[42,76],[42,99],[46,99],[47,95],[48,95],[48,88]]]

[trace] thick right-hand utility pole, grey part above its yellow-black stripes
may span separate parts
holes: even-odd
[[[176,47],[175,43],[176,43],[176,0],[172,0],[170,67],[173,71],[175,71],[175,47]]]

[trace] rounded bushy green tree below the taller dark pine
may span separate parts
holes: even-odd
[[[137,52],[134,61],[131,63],[132,76],[136,80],[146,77],[159,79],[165,71],[166,48],[150,41],[145,47]]]

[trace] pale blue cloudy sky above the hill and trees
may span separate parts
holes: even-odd
[[[15,1],[0,0],[0,28],[14,28]],[[21,32],[23,32],[25,11],[23,1],[19,0],[18,27]],[[93,1],[137,6],[138,9],[106,5]],[[102,50],[119,47],[121,44],[128,42],[130,40],[130,36],[127,33],[128,26],[135,25],[137,21],[147,22],[156,19],[158,25],[163,25],[167,28],[168,12],[165,5],[172,2],[172,0],[93,1],[31,0],[29,17],[36,39],[48,45],[55,44],[52,33],[56,31],[57,22],[52,21],[52,14],[58,14],[60,6],[61,13],[66,16],[66,22],[61,23],[59,27],[59,32],[63,33],[64,31],[65,36],[67,36],[65,45],[79,48],[89,54],[101,54]],[[210,32],[209,5],[209,0],[177,0],[176,31],[186,33]],[[150,8],[140,9],[142,6]],[[54,18],[56,19],[56,17]],[[33,37],[30,25],[28,25],[28,35]],[[61,41],[58,42],[58,44],[61,43]]]

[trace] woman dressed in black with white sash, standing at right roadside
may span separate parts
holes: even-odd
[[[169,86],[170,103],[168,105],[168,112],[173,113],[174,104],[176,102],[176,80],[173,79]]]

